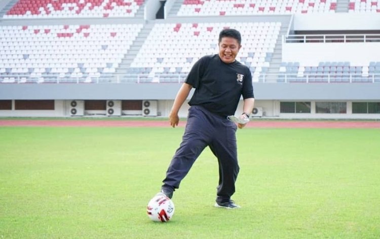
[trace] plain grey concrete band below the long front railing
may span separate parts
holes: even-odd
[[[180,86],[177,83],[1,84],[0,100],[174,100]],[[380,83],[255,82],[253,87],[257,100],[380,101]]]

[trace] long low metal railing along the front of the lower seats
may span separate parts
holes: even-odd
[[[30,76],[25,74],[0,74],[0,83],[182,83],[185,81],[187,74],[156,74],[149,76],[146,74],[109,74],[100,75],[99,77],[58,77],[57,75]],[[376,74],[297,74],[297,73],[279,73],[279,74],[253,74],[253,82],[262,83],[355,83],[368,82],[380,83],[380,73]]]

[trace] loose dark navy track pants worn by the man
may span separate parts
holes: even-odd
[[[190,107],[182,142],[166,172],[163,187],[178,188],[195,160],[208,146],[219,163],[216,201],[229,201],[235,193],[239,173],[236,129],[236,124],[224,117],[201,106]]]

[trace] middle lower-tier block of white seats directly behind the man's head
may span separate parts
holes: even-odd
[[[218,52],[218,34],[227,27],[238,28],[244,36],[237,60],[251,67],[254,80],[257,81],[263,67],[269,67],[281,28],[280,22],[156,24],[131,63],[129,72],[144,69],[142,73],[149,76],[186,74],[200,57]],[[160,44],[157,39],[164,42]]]

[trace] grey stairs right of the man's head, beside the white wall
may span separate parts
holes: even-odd
[[[277,76],[273,74],[278,74],[280,72],[280,66],[282,62],[282,36],[287,34],[288,31],[288,24],[282,24],[280,33],[277,37],[275,50],[273,52],[272,61],[270,62],[269,69],[268,69],[268,76],[265,77],[265,81],[267,82],[276,82]]]

